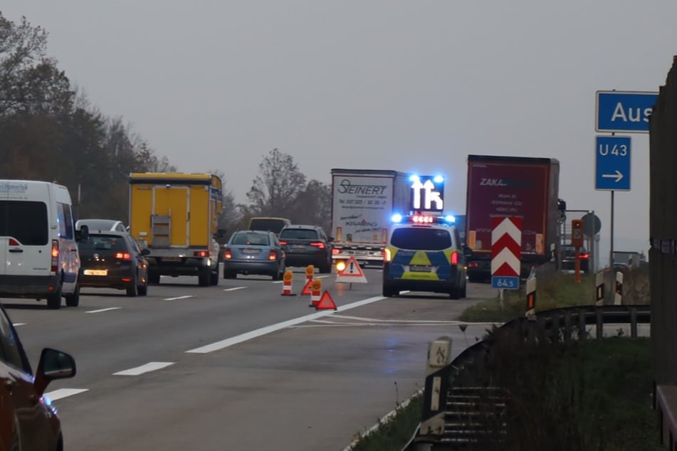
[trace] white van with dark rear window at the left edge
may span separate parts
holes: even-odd
[[[86,239],[88,228],[77,232]],[[80,302],[80,257],[65,186],[0,180],[0,297],[47,299],[47,307]]]

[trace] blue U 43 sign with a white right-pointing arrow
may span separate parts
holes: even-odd
[[[594,189],[630,191],[630,137],[598,136]]]

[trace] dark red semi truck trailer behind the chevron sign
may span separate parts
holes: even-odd
[[[468,280],[491,277],[491,218],[522,218],[522,277],[552,259],[557,245],[560,162],[552,158],[468,155]]]

